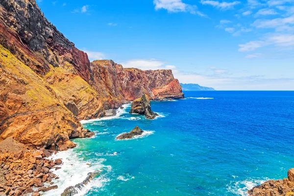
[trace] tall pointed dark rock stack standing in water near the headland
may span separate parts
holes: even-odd
[[[158,116],[151,110],[150,100],[146,95],[133,100],[130,114],[143,114],[147,119],[155,119]]]

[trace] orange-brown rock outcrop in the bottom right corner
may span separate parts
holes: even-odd
[[[249,196],[294,196],[294,168],[288,171],[288,178],[269,180],[248,191]]]

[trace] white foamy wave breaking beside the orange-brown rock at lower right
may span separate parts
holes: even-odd
[[[247,180],[242,180],[242,181],[237,181],[237,182],[231,182],[227,186],[228,192],[231,192],[237,196],[248,196],[247,191],[252,189],[255,186],[258,186],[262,183],[264,183],[266,180],[261,180],[261,179],[247,179]]]

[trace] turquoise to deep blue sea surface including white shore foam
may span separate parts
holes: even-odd
[[[60,195],[99,174],[80,196],[246,196],[294,167],[294,92],[190,91],[185,99],[151,101],[155,120],[128,114],[83,121],[96,133],[55,158]],[[136,125],[143,136],[116,140]]]

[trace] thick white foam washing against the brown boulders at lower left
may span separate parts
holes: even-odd
[[[62,159],[63,161],[61,169],[57,171],[53,169],[53,173],[59,179],[53,179],[52,181],[54,185],[58,185],[58,188],[45,192],[42,196],[60,196],[66,188],[85,180],[89,172],[106,170],[107,172],[105,173],[108,173],[111,170],[111,166],[102,165],[105,159],[97,159],[94,163],[89,163],[82,160],[82,158],[78,158],[73,149],[58,152],[56,155],[52,155],[52,159]],[[93,179],[84,189],[79,191],[76,196],[85,195],[92,187],[102,187],[107,181],[109,179],[106,178],[105,174],[99,174],[97,178]]]

